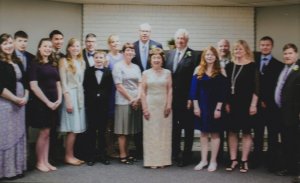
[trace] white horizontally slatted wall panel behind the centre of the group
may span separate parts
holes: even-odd
[[[138,26],[148,22],[152,38],[167,47],[167,40],[178,28],[190,32],[190,47],[201,50],[215,45],[221,38],[230,41],[245,39],[254,48],[254,9],[241,7],[203,6],[83,6],[83,36],[95,33],[100,49],[107,49],[107,37],[119,34],[121,41],[138,39]]]

